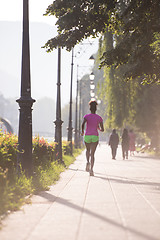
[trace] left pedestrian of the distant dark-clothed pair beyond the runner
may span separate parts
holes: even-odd
[[[114,160],[116,159],[118,143],[119,143],[119,136],[116,133],[116,129],[113,129],[109,137],[109,145],[112,151],[112,159]]]

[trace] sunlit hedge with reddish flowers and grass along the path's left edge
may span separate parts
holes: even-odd
[[[63,143],[62,143],[63,144]],[[63,154],[68,151],[68,143],[63,144]],[[17,171],[17,136],[0,134],[0,216],[7,211],[15,211],[25,202],[25,197],[38,191],[47,190],[75,160],[64,156],[64,164],[55,161],[55,142],[48,143],[44,138],[33,139],[34,174],[28,178]],[[80,152],[78,152],[80,153]]]

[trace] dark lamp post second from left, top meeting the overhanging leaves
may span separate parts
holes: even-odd
[[[62,160],[62,123],[61,120],[61,48],[58,48],[58,75],[57,75],[57,104],[56,104],[56,121],[55,123],[55,142],[56,145],[56,159],[60,162]]]

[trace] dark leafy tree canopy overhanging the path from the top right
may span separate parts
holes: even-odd
[[[84,38],[110,30],[115,35],[114,48],[103,52],[100,66],[129,63],[125,78],[140,76],[142,81],[158,82],[159,13],[159,0],[55,0],[46,15],[57,17],[58,35],[45,48],[48,52],[58,46],[71,50]]]

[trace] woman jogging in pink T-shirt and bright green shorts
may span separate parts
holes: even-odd
[[[86,131],[84,136],[84,143],[86,146],[86,171],[90,173],[90,176],[94,176],[93,167],[94,167],[94,154],[99,142],[99,133],[98,130],[104,132],[103,119],[101,116],[96,114],[97,102],[90,101],[90,114],[86,114],[83,118],[82,123],[82,136],[84,135],[84,127],[86,124]]]

